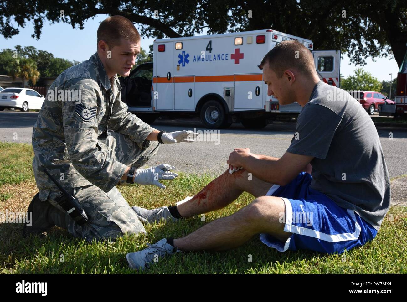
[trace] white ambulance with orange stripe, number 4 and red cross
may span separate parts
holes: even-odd
[[[271,29],[157,39],[153,62],[144,63],[123,80],[122,101],[129,111],[152,123],[158,116],[200,116],[217,129],[241,122],[263,128],[281,114],[298,114],[298,103],[280,106],[267,96],[258,68],[271,48],[298,40],[315,58],[320,78],[339,85],[340,51],[313,51],[313,42]]]

